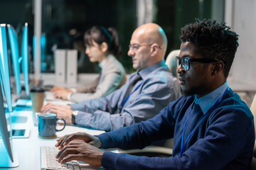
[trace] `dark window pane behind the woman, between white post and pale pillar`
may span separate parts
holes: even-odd
[[[132,61],[127,56],[132,31],[136,28],[136,1],[119,0],[44,0],[42,1],[42,33],[46,35],[46,57],[42,72],[54,72],[53,50],[78,50],[78,73],[98,72],[97,63],[91,63],[82,47],[83,34],[92,26],[113,26],[119,33],[122,56],[119,61],[127,72]]]

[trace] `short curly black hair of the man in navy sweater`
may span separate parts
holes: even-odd
[[[225,26],[225,23],[216,23],[215,20],[202,21],[181,28],[181,42],[192,42],[196,52],[203,57],[217,58],[225,64],[223,72],[228,77],[238,48],[238,35]]]

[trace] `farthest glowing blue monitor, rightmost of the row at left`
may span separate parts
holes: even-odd
[[[24,85],[26,90],[26,95],[29,95],[28,87],[28,23],[25,23],[23,30],[23,38],[21,42],[21,57],[22,57],[22,72],[24,77]]]

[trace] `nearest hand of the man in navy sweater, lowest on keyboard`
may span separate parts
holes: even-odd
[[[63,147],[63,149],[56,155],[56,158],[61,164],[77,160],[93,166],[102,166],[101,159],[104,152],[105,151],[98,149],[87,142],[74,140]]]

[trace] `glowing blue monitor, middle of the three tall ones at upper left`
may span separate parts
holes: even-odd
[[[16,84],[16,94],[21,94],[21,68],[19,63],[18,38],[15,29],[11,25],[7,25],[9,33],[9,41],[11,46],[11,58],[14,65],[14,77]]]

